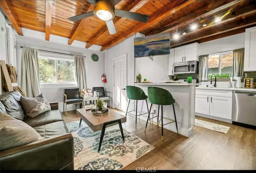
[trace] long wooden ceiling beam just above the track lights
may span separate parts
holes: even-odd
[[[244,4],[248,1],[244,0],[234,0],[228,4],[226,4],[229,0],[223,0],[223,1],[215,1],[213,3],[208,4],[205,8],[202,8],[198,10],[197,12],[193,12],[191,14],[188,14],[182,18],[179,18],[177,20],[174,20],[170,22],[169,24],[166,24],[162,26],[161,28],[158,28],[151,33],[146,33],[146,35],[154,35],[158,33],[165,33],[174,31],[177,28],[182,28],[185,26],[188,26],[189,24],[192,24],[193,22],[199,20],[200,18],[208,18],[216,13],[222,12],[224,10],[234,8],[238,5]]]

